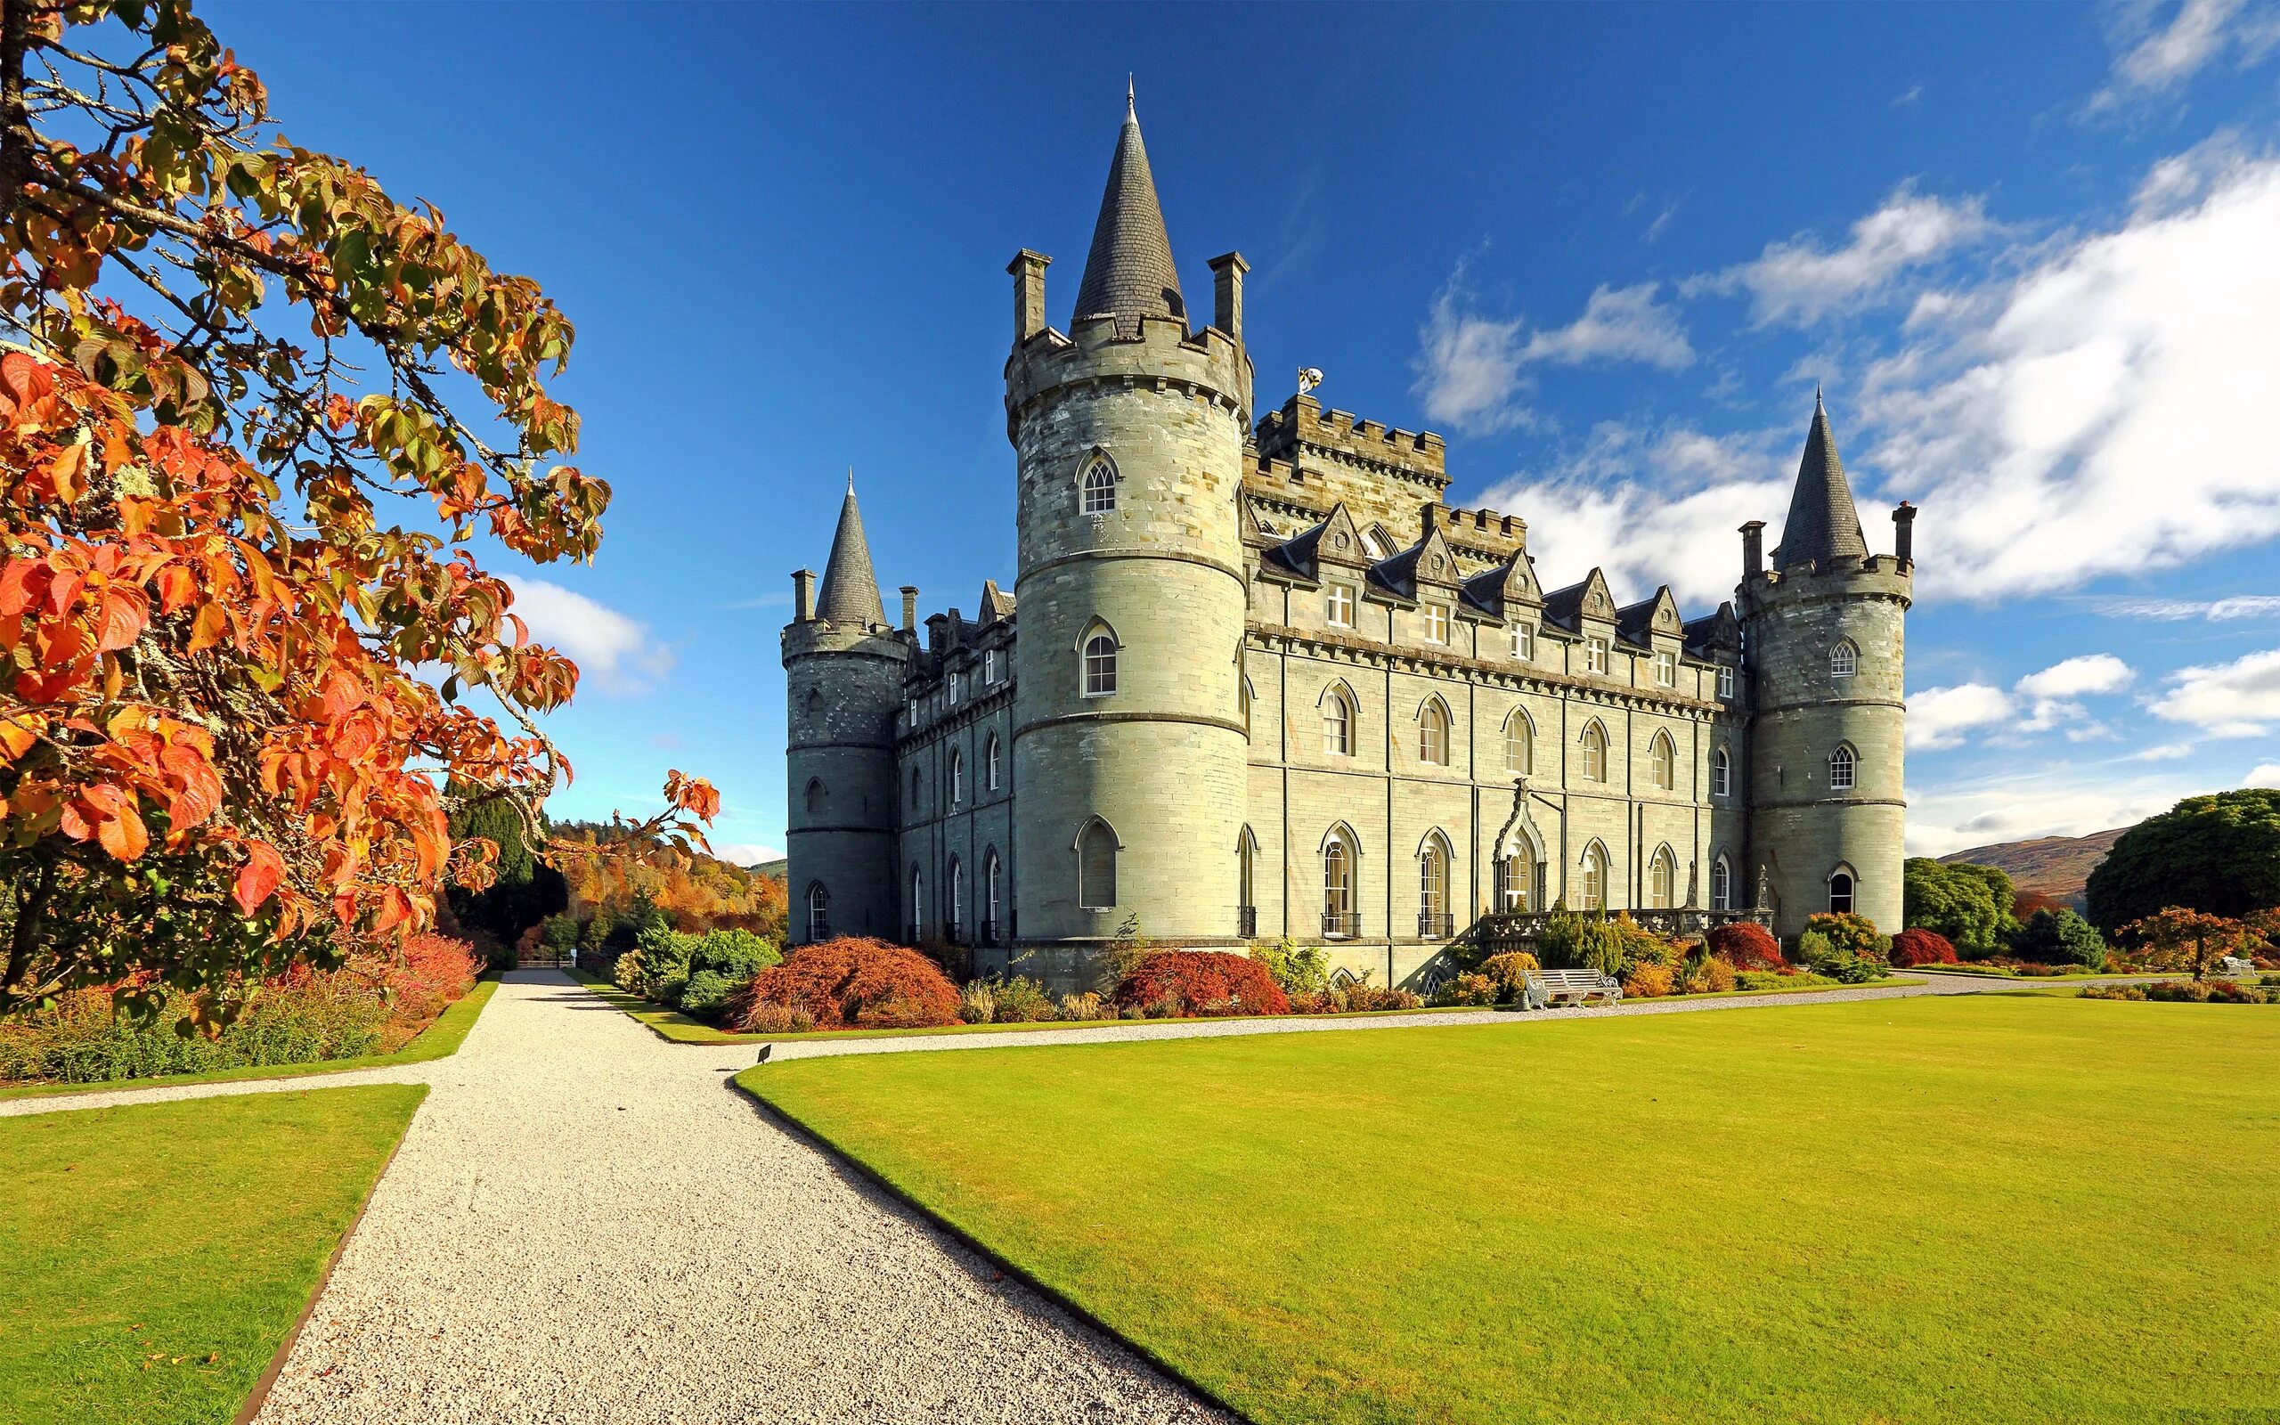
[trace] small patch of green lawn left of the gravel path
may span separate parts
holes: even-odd
[[[219,1425],[426,1085],[0,1119],[0,1420]]]

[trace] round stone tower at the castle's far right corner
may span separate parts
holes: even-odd
[[[1760,524],[1742,527],[1737,591],[1751,682],[1749,891],[1769,891],[1774,930],[1851,910],[1902,928],[1906,860],[1906,616],[1913,518],[1892,513],[1895,554],[1870,554],[1829,413],[1813,431],[1774,568]]]

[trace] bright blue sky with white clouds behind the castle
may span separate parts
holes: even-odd
[[[285,132],[579,328],[565,816],[714,777],[782,846],[789,570],[846,470],[889,606],[1012,577],[1015,249],[1067,324],[1124,75],[1259,401],[1450,438],[1550,584],[1726,597],[1813,388],[1922,506],[1911,846],[2280,784],[2280,7],[210,5]]]

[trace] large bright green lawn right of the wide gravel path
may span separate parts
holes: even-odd
[[[739,1083],[1256,1420],[2280,1418],[2280,1015],[1897,999]]]

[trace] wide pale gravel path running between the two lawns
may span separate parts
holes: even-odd
[[[435,1088],[258,1423],[1220,1418],[711,1058],[508,976],[420,1065]]]

